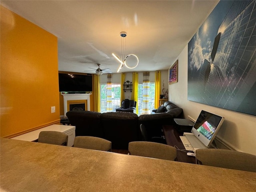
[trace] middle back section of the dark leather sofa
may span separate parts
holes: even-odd
[[[128,143],[139,138],[138,115],[128,112],[107,112],[100,116],[104,138],[112,149],[128,149]]]

